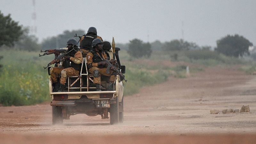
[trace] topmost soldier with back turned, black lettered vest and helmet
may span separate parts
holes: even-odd
[[[83,51],[83,57],[86,57],[89,50],[92,49],[92,41],[96,38],[103,41],[100,36],[97,36],[97,29],[95,27],[89,27],[87,34],[84,35],[79,41],[80,49]]]

